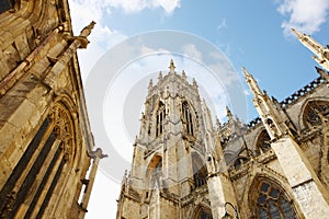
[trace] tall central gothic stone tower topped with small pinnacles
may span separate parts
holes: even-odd
[[[174,69],[171,61],[149,83],[117,219],[219,218],[225,201],[236,203],[230,181],[216,174],[223,151],[197,84]]]

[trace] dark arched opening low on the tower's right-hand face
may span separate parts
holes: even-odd
[[[201,187],[205,185],[206,177],[208,175],[207,169],[203,160],[195,152],[192,153],[192,169],[193,169],[193,181],[194,187]]]

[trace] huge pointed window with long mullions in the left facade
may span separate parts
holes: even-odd
[[[69,112],[56,104],[26,147],[0,191],[0,218],[41,218],[53,196],[73,147]],[[38,180],[36,180],[38,178]],[[22,205],[27,209],[23,212]]]

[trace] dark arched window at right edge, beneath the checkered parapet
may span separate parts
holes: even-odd
[[[318,114],[329,116],[329,102],[310,101],[305,107],[303,120],[306,126],[315,126],[321,123]]]

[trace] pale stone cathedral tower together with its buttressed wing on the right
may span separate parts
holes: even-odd
[[[292,31],[320,77],[279,102],[243,68],[259,114],[248,124],[228,107],[213,124],[172,60],[149,82],[117,219],[329,218],[329,49]]]

